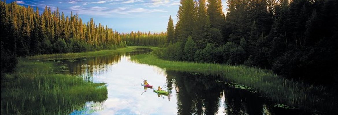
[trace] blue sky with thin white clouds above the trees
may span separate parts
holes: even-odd
[[[10,3],[16,0],[6,0]],[[223,12],[226,1],[222,0]],[[83,22],[93,17],[95,24],[101,23],[120,33],[141,31],[160,33],[167,30],[169,16],[176,24],[179,0],[17,0],[17,4],[39,8],[47,5],[52,11],[59,8],[65,15],[78,13]]]

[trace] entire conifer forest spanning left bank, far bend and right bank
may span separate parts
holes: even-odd
[[[18,56],[116,49],[126,45],[165,46],[166,60],[246,65],[320,85],[338,82],[336,0],[181,0],[177,23],[166,33],[120,34],[45,7],[42,13],[1,1],[1,72]]]

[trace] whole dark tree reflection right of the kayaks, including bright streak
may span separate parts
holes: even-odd
[[[192,75],[167,71],[167,86],[170,90],[175,83],[177,109],[180,115],[214,115],[223,106],[229,115],[258,115],[269,109],[263,108],[265,101],[258,94],[218,83],[213,76]],[[221,98],[223,99],[222,101]],[[222,114],[222,113],[220,113]]]

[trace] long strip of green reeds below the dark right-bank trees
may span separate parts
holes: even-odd
[[[165,61],[152,54],[131,56],[138,63],[158,66],[165,70],[221,75],[227,81],[252,87],[268,99],[307,111],[337,112],[337,97],[322,86],[309,86],[273,74],[269,70],[246,66]],[[244,86],[240,86],[244,87]]]

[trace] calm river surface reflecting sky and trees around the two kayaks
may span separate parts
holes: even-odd
[[[298,109],[274,107],[258,93],[225,85],[221,77],[174,72],[130,61],[143,52],[62,60],[62,73],[106,83],[104,102],[87,102],[71,115],[285,115],[307,114]],[[146,79],[153,88],[164,86],[169,95],[159,95],[141,86]]]

